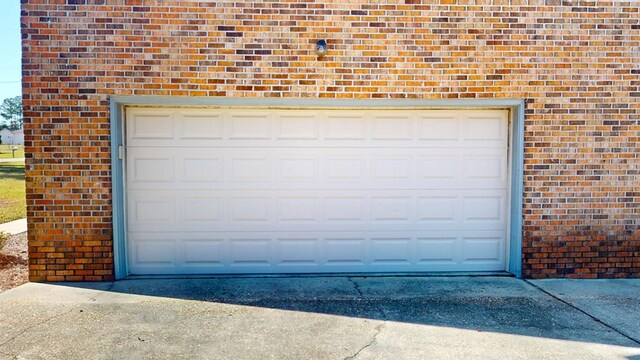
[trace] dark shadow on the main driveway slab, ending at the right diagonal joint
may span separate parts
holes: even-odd
[[[72,283],[85,289],[638,347],[511,277],[221,277]]]

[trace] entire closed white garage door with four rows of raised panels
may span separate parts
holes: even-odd
[[[505,270],[507,112],[126,112],[131,274]]]

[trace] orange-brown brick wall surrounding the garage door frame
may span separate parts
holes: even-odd
[[[32,281],[113,279],[111,94],[524,98],[525,276],[640,276],[638,2],[22,3]]]

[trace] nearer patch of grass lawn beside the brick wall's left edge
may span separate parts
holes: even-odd
[[[24,162],[0,163],[0,223],[26,216]]]

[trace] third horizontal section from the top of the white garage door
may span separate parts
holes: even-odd
[[[504,190],[132,190],[130,231],[493,230],[506,224]]]

